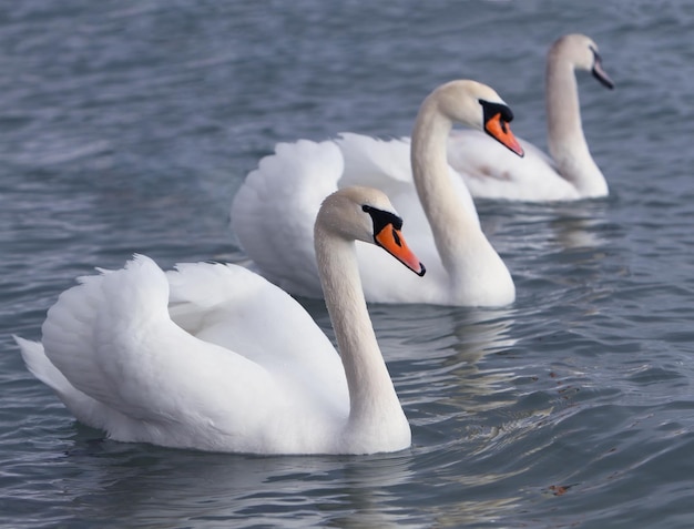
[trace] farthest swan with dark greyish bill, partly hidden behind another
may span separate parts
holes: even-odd
[[[591,156],[581,125],[575,70],[588,70],[605,87],[598,44],[582,34],[555,41],[547,59],[547,120],[550,159],[521,140],[519,160],[482,134],[453,131],[448,162],[462,174],[472,196],[529,202],[606,196],[608,183]]]

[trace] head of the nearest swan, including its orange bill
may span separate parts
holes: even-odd
[[[323,202],[316,231],[324,230],[347,241],[364,241],[382,247],[418,275],[426,268],[408,247],[402,220],[382,192],[372,187],[344,187]]]

